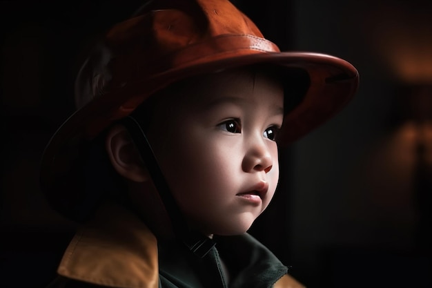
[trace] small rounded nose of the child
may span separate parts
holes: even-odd
[[[264,140],[253,142],[243,160],[243,170],[251,173],[253,171],[264,171],[268,173],[273,167],[273,157]]]

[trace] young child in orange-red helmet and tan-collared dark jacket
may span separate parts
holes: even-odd
[[[279,52],[226,0],[153,1],[77,77],[41,186],[81,224],[50,287],[302,287],[248,235],[278,145],[355,93],[342,59]]]

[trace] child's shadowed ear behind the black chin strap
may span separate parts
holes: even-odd
[[[150,179],[132,137],[124,126],[115,125],[110,128],[105,146],[112,166],[121,176],[134,182]]]

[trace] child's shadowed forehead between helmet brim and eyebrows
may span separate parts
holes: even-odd
[[[255,98],[253,97],[255,95]],[[273,95],[273,96],[272,96]],[[198,75],[172,84],[154,95],[153,117],[171,119],[181,111],[204,113],[213,104],[253,103],[265,97],[274,111],[284,111],[284,88],[275,73],[259,68],[236,68]],[[235,99],[238,98],[238,99]]]

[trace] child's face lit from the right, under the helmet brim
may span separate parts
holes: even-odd
[[[244,233],[277,186],[282,85],[235,70],[190,82],[169,102],[149,137],[181,210],[207,235]]]

